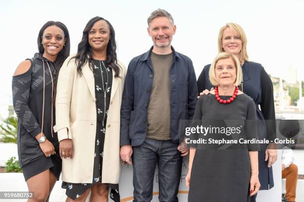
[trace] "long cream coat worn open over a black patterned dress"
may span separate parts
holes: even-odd
[[[70,61],[71,57],[60,69],[56,94],[54,131],[58,133],[59,141],[70,138],[73,142],[73,158],[62,160],[62,179],[69,183],[92,183],[97,118],[94,75],[86,63],[79,77],[75,59]],[[101,175],[102,183],[112,184],[118,183],[120,174],[120,107],[126,75],[125,67],[118,64],[122,79],[115,78],[112,70]]]

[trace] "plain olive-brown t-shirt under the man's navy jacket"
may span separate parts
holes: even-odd
[[[148,106],[147,138],[169,140],[170,137],[170,68],[173,53],[158,55],[151,52],[153,84]]]

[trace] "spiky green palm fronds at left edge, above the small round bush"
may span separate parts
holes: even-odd
[[[0,123],[0,136],[2,142],[14,142],[17,143],[17,118],[8,117],[6,119],[1,118]]]

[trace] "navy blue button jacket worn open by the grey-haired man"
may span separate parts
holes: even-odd
[[[128,66],[121,105],[120,145],[137,146],[143,143],[148,128],[153,67],[150,54],[153,47],[135,57]],[[179,120],[193,118],[197,101],[197,82],[192,61],[173,47],[170,68],[170,136],[179,143]]]

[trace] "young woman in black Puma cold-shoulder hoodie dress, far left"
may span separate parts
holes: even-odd
[[[12,78],[13,106],[18,117],[18,157],[29,202],[48,201],[59,180],[62,162],[55,125],[54,92],[59,68],[70,55],[70,36],[61,22],[48,21],[38,34],[38,50],[22,61]]]

